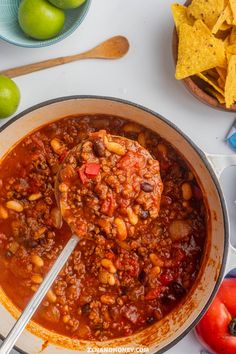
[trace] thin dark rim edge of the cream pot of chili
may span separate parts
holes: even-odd
[[[223,251],[223,257],[222,257],[222,264],[220,267],[220,271],[219,271],[219,276],[217,278],[215,287],[211,293],[211,296],[209,297],[206,305],[204,306],[204,308],[201,310],[201,312],[198,314],[197,318],[191,323],[191,325],[188,326],[188,328],[186,328],[176,339],[174,339],[171,343],[167,344],[164,348],[157,350],[154,354],[162,354],[164,352],[166,352],[167,350],[169,350],[170,348],[172,348],[173,346],[175,346],[181,339],[183,339],[195,326],[196,324],[200,321],[200,319],[202,318],[202,316],[205,314],[205,312],[207,311],[208,307],[210,306],[212,300],[214,299],[217,290],[220,287],[221,281],[224,277],[224,273],[225,273],[225,269],[226,269],[226,262],[227,262],[227,255],[228,255],[228,250],[229,250],[229,220],[228,220],[228,213],[227,213],[227,208],[226,208],[226,203],[225,203],[225,198],[223,196],[223,192],[222,189],[220,187],[220,183],[219,180],[215,174],[215,171],[213,170],[210,162],[207,159],[207,156],[205,155],[205,153],[191,140],[191,138],[189,138],[185,133],[183,133],[181,131],[181,129],[179,129],[173,122],[169,121],[167,118],[164,118],[161,114],[156,113],[155,111],[146,108],[138,103],[134,103],[122,98],[116,98],[116,97],[111,97],[111,96],[99,96],[99,95],[71,95],[71,96],[62,96],[62,97],[58,97],[55,99],[51,99],[51,100],[47,100],[41,103],[38,103],[24,111],[22,111],[21,113],[17,114],[15,117],[13,117],[12,119],[10,119],[8,122],[6,122],[2,127],[0,127],[0,134],[3,130],[5,130],[8,126],[10,126],[12,123],[14,123],[15,121],[17,121],[20,118],[23,118],[26,114],[31,113],[39,108],[45,107],[45,106],[50,106],[54,103],[58,103],[58,102],[64,102],[64,101],[70,101],[70,100],[83,100],[83,99],[92,99],[92,100],[105,100],[105,101],[113,101],[113,102],[118,102],[118,103],[123,103],[125,105],[131,106],[131,107],[136,107],[140,110],[143,110],[151,115],[153,115],[154,117],[162,120],[165,124],[169,125],[171,128],[173,128],[174,130],[176,130],[192,147],[193,149],[197,152],[197,154],[199,155],[199,157],[201,158],[201,160],[204,162],[204,165],[206,166],[206,168],[208,169],[210,176],[215,184],[215,187],[217,189],[218,192],[218,196],[221,202],[221,207],[222,207],[222,212],[223,212],[223,219],[224,219],[224,251]],[[4,340],[4,336],[0,333],[0,339]],[[18,348],[17,346],[14,347],[15,350],[17,350],[19,353],[21,354],[28,354],[27,352],[21,350],[20,348]]]

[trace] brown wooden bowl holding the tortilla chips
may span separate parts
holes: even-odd
[[[190,4],[191,4],[191,0],[187,0],[185,6],[189,6]],[[172,53],[173,53],[175,65],[178,59],[178,44],[179,44],[178,42],[179,42],[178,34],[176,28],[174,28],[173,37],[172,37]],[[234,104],[230,108],[227,108],[225,104],[219,103],[219,101],[215,97],[211,96],[207,92],[207,88],[209,88],[210,86],[205,81],[201,80],[199,77],[190,76],[181,81],[183,81],[188,91],[194,97],[196,97],[200,102],[221,111],[236,112],[236,104]]]

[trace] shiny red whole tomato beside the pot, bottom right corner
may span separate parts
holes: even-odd
[[[202,344],[212,353],[236,353],[236,279],[223,281],[195,330]]]

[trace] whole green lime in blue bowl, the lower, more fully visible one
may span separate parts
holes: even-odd
[[[64,11],[47,0],[22,0],[18,11],[22,30],[35,39],[55,37],[65,23]]]

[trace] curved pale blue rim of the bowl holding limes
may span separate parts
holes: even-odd
[[[23,47],[23,48],[43,48],[43,47],[49,47],[53,44],[56,44],[64,39],[66,39],[67,37],[69,37],[80,25],[81,23],[83,22],[83,20],[85,19],[87,13],[88,13],[88,10],[91,6],[91,3],[92,3],[92,0],[86,0],[86,2],[84,3],[84,6],[85,6],[85,10],[82,14],[82,16],[78,19],[78,21],[70,28],[68,29],[63,35],[61,35],[61,37],[54,37],[52,39],[49,39],[49,40],[45,40],[45,41],[38,41],[38,42],[35,42],[35,43],[32,43],[32,44],[20,44],[20,43],[17,43],[15,41],[12,41],[10,39],[7,39],[5,37],[3,37],[2,35],[0,35],[0,39],[2,39],[3,41],[5,42],[8,42],[10,44],[14,44],[16,45],[17,47]],[[59,35],[60,36],[60,35]]]

